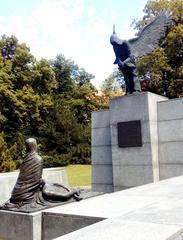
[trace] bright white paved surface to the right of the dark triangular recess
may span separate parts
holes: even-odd
[[[55,237],[57,240],[183,240],[183,176],[55,207],[46,212],[57,214],[57,217],[67,215],[71,219],[79,216],[83,221],[86,217],[105,219]]]

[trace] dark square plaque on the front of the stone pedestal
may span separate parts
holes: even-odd
[[[118,129],[118,146],[124,147],[142,147],[141,122],[119,122]]]

